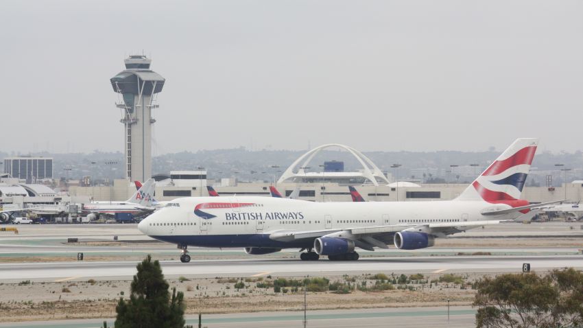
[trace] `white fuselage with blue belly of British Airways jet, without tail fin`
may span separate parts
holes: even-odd
[[[309,202],[268,197],[195,197],[169,202],[145,218],[139,229],[155,239],[183,246],[311,248],[322,233],[289,241],[274,236],[359,228],[374,233],[374,229],[383,226],[397,226],[392,233],[424,225],[464,226],[464,222],[511,220],[521,214],[481,214],[486,209],[511,208],[484,200]]]

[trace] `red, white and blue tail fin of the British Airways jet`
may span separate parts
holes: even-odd
[[[485,200],[512,207],[528,204],[519,198],[537,145],[536,138],[516,139],[456,200]]]

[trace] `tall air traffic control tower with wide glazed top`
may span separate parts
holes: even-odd
[[[158,108],[156,94],[162,91],[165,78],[150,70],[151,59],[130,56],[124,60],[126,70],[110,79],[119,93],[116,103],[122,110],[126,152],[126,178],[145,181],[152,177],[152,109]]]

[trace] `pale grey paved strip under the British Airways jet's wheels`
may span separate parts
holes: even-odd
[[[3,263],[0,281],[125,280],[136,272],[137,261]],[[532,270],[583,268],[582,255],[567,256],[453,256],[453,257],[378,257],[359,261],[299,261],[297,259],[204,260],[180,263],[162,261],[166,277],[262,277],[334,276],[371,272],[519,272],[523,263]]]

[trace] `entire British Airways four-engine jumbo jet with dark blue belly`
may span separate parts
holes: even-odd
[[[356,260],[355,248],[413,250],[487,224],[512,220],[534,207],[519,199],[538,139],[517,139],[455,200],[309,202],[285,198],[178,198],[140,222],[145,235],[187,246],[243,247],[253,255],[301,248],[302,260],[327,255]]]

